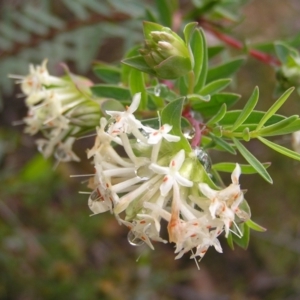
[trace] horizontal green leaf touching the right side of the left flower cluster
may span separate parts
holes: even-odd
[[[96,84],[91,87],[92,93],[101,98],[112,98],[119,101],[131,101],[129,89],[110,84]]]

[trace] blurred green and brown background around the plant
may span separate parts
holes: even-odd
[[[155,251],[130,246],[127,229],[109,213],[89,217],[87,197],[78,194],[86,190],[85,184],[69,176],[92,172],[85,150],[93,139],[77,142],[81,163],[60,164],[53,170],[55,162],[37,153],[35,139],[23,134],[22,126],[12,125],[26,115],[26,108],[7,74],[25,75],[28,61],[38,64],[47,57],[52,74],[61,74],[59,62],[66,61],[74,73],[94,79],[93,60],[117,62],[130,45],[141,41],[140,16],[151,1],[105,1],[108,11],[104,1],[86,1],[98,5],[85,10],[83,2],[0,3],[0,299],[300,299],[299,162],[255,141],[248,144],[260,161],[272,161],[273,185],[256,175],[241,177],[253,220],[268,231],[253,234],[247,251],[232,251],[221,239],[224,253],[210,249],[198,271],[188,255],[174,260],[171,244],[156,244]],[[190,4],[181,1],[181,8]],[[50,29],[40,28],[23,41],[22,36],[7,38],[5,26],[14,25],[20,15],[30,16],[30,10],[33,27],[42,27],[36,17],[39,9],[42,18],[51,12]],[[298,0],[248,1],[242,14],[244,21],[234,35],[249,44],[300,31]],[[12,28],[15,32],[10,34],[17,34],[18,26]],[[213,37],[208,40],[215,42]],[[237,107],[256,85],[261,94],[258,108],[267,109],[274,101],[274,70],[249,58],[234,81],[234,91],[243,96]],[[299,96],[293,95],[281,112],[299,114]],[[291,137],[279,143],[290,146]],[[218,153],[212,157],[214,162],[242,161]]]

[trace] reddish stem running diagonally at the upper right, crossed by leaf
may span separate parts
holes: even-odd
[[[227,45],[236,48],[236,49],[244,49],[244,44],[240,42],[239,40],[233,38],[232,36],[229,36],[223,32],[220,32],[217,30],[214,26],[211,25],[211,23],[207,20],[201,19],[200,22],[201,26],[212,33],[215,37],[226,43]],[[268,65],[271,66],[280,66],[281,62],[274,56],[266,54],[264,52],[261,52],[259,50],[255,49],[249,49],[248,51],[249,55],[254,57],[257,60],[260,60]]]

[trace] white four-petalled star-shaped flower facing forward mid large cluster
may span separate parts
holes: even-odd
[[[172,189],[174,182],[182,186],[192,187],[193,182],[180,175],[179,170],[185,160],[184,150],[180,150],[171,160],[169,167],[162,167],[157,164],[151,164],[149,168],[158,174],[165,174],[163,183],[160,186],[162,196],[166,196]]]

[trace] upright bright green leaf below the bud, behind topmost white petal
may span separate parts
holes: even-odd
[[[139,110],[145,110],[147,108],[147,92],[145,87],[144,74],[136,69],[132,69],[129,75],[129,88],[131,96],[136,93],[141,93],[141,102]]]

